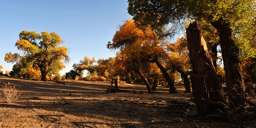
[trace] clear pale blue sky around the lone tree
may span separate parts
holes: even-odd
[[[96,60],[114,57],[106,48],[118,25],[132,17],[127,13],[127,0],[0,0],[0,65],[11,71],[4,61],[5,53],[21,53],[15,47],[22,30],[56,32],[70,48],[69,64],[63,75],[85,56]]]

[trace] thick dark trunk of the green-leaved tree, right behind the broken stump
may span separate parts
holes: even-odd
[[[232,29],[223,19],[211,23],[219,32],[226,86],[228,88],[231,108],[246,105],[244,76],[239,58],[240,49],[232,38]]]

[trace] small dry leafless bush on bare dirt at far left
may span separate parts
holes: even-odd
[[[16,89],[15,85],[5,84],[1,85],[1,98],[4,98],[7,103],[16,100],[21,93],[18,92],[19,88]]]

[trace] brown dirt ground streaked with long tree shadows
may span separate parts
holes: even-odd
[[[119,89],[127,91],[106,93],[110,88],[108,81],[65,80],[62,81],[65,84],[59,84],[0,76],[0,82],[14,83],[21,92],[19,99],[11,103],[0,99],[0,127],[4,128],[254,128],[256,125],[255,120],[228,122],[199,117],[194,106],[183,107],[192,100],[192,94],[183,93],[183,87],[177,88],[179,94],[170,94],[168,88],[159,86],[153,94],[148,94],[143,84],[119,84]],[[57,103],[59,96],[70,105]]]

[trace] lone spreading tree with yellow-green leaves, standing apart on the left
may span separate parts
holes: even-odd
[[[69,61],[68,49],[65,46],[59,47],[62,40],[55,32],[48,33],[45,31],[38,34],[34,31],[21,31],[19,37],[20,40],[17,40],[15,46],[23,53],[6,53],[5,61],[13,63],[32,59],[40,68],[41,81],[47,81],[48,69],[52,64],[61,60]]]

